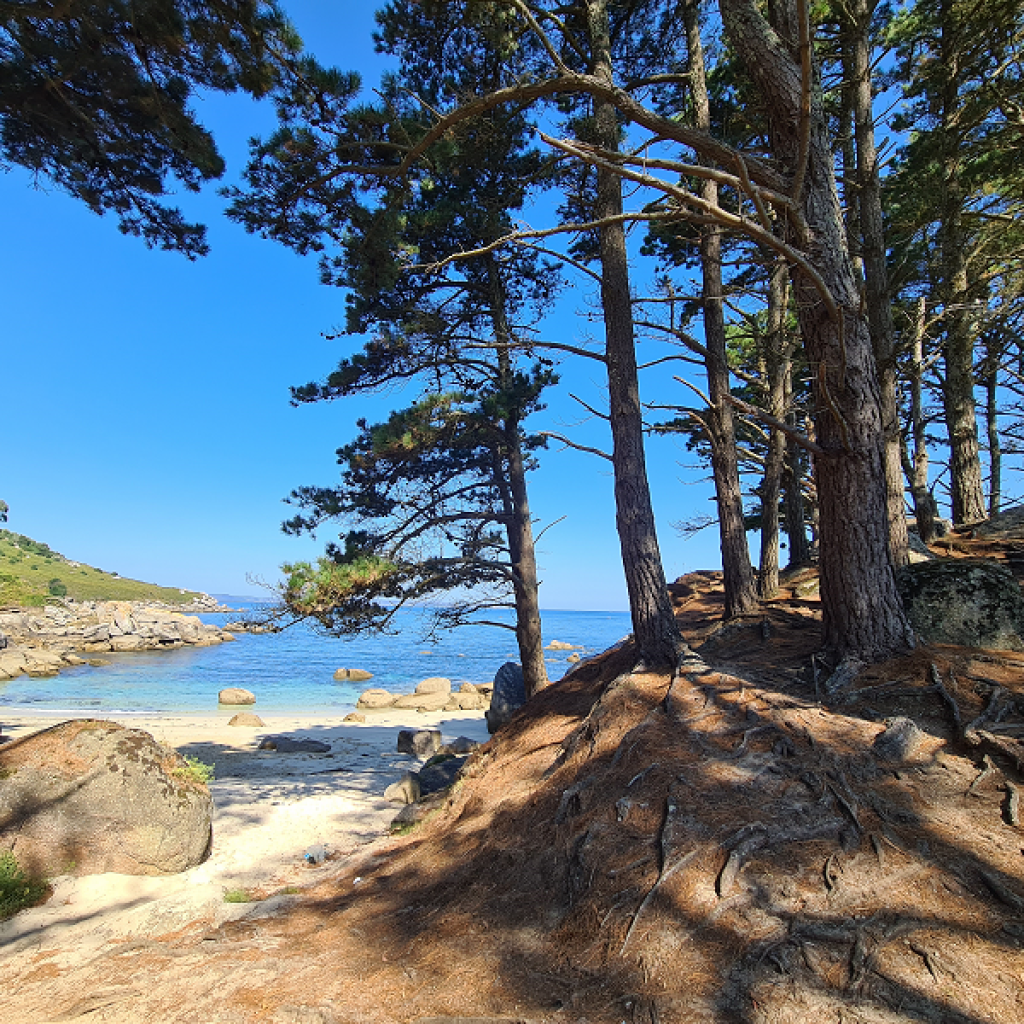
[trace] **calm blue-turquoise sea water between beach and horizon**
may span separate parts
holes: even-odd
[[[135,654],[102,654],[111,664],[63,669],[59,676],[22,676],[0,682],[3,712],[120,714],[210,712],[217,693],[243,686],[256,694],[256,711],[344,715],[362,690],[380,686],[409,692],[428,676],[462,682],[494,679],[505,663],[518,660],[515,635],[496,627],[465,627],[424,640],[428,613],[402,611],[396,636],[336,638],[299,625],[275,634],[240,634],[217,647],[178,648]],[[201,616],[223,625],[238,614]],[[578,644],[584,657],[617,643],[632,630],[625,611],[545,611],[544,640]],[[560,679],[571,651],[547,651],[548,675]],[[339,668],[366,669],[369,682],[335,682]],[[223,712],[231,714],[230,712]]]

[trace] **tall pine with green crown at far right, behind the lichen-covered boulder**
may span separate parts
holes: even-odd
[[[891,29],[909,130],[888,183],[892,244],[904,287],[914,268],[938,314],[953,521],[985,518],[975,348],[992,268],[1019,254],[1024,13],[1016,0],[915,3]]]

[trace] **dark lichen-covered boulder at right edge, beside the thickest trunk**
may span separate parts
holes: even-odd
[[[920,562],[899,569],[896,584],[910,624],[926,643],[1024,650],[1024,595],[997,562]]]

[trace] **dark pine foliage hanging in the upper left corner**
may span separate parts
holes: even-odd
[[[273,0],[13,0],[0,5],[0,161],[48,178],[121,230],[195,258],[205,229],[167,206],[224,163],[197,89],[264,94],[298,41]]]

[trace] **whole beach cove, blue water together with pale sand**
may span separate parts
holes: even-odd
[[[566,645],[548,651],[554,679],[569,668],[573,653],[610,646],[628,625],[618,613],[551,615],[558,642]],[[221,617],[227,616],[204,621],[220,626]],[[51,879],[45,904],[0,923],[4,958],[14,966],[45,952],[52,963],[71,967],[110,942],[143,942],[197,923],[216,929],[275,912],[341,861],[372,851],[387,837],[401,807],[385,801],[384,792],[422,765],[397,753],[399,730],[439,729],[444,743],[488,738],[482,711],[388,710],[346,722],[359,692],[411,691],[438,675],[451,678],[455,690],[463,682],[490,681],[514,657],[510,639],[500,630],[463,631],[432,644],[415,629],[348,641],[305,630],[240,634],[221,646],[115,653],[98,668],[67,668],[59,676],[23,676],[0,685],[0,727],[8,740],[70,719],[102,719],[148,732],[214,771],[209,859],[173,876]],[[373,679],[336,681],[342,665],[366,667]],[[245,710],[259,716],[261,727],[228,724],[241,709],[217,702],[226,685],[256,694],[256,703]],[[259,750],[265,737],[279,735],[319,740],[330,751]],[[326,856],[310,863],[310,851]]]

